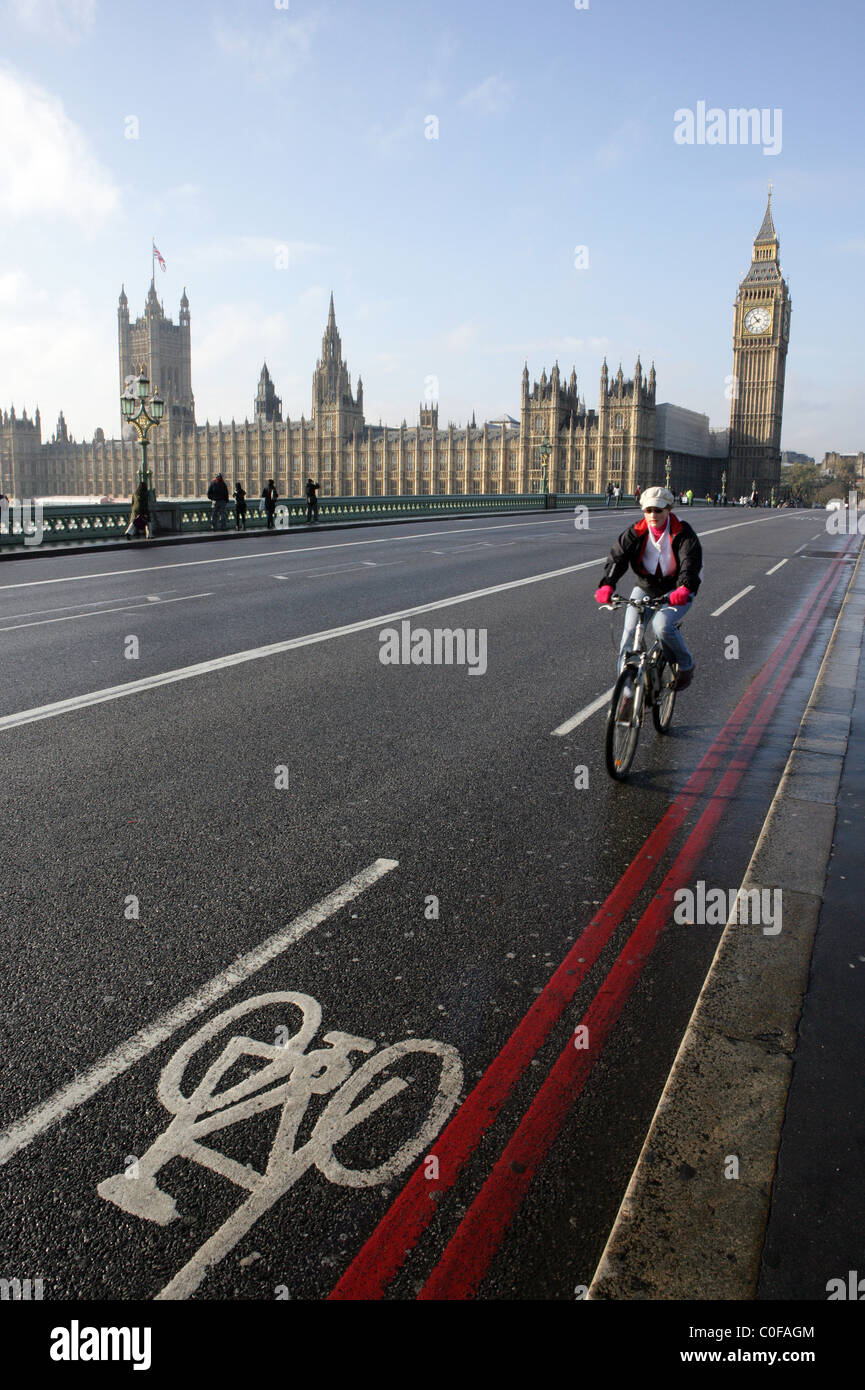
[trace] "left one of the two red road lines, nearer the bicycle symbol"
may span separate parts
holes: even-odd
[[[655,830],[631,860],[599,910],[577,938],[565,960],[547,983],[526,1016],[435,1143],[438,1179],[426,1176],[426,1165],[414,1170],[402,1193],[360,1248],[330,1293],[331,1300],[381,1298],[437,1211],[437,1197],[459,1177],[484,1133],[496,1119],[510,1091],[573,999],[585,974],[619,927],[644,884],[658,867],[673,835],[700,799],[706,783],[730,751],[761,692],[783,662],[797,635],[800,616],[827,591],[830,575],[819,581],[804,600],[787,632],[751,682],[726,724],[700,760],[694,773],[668,808]]]

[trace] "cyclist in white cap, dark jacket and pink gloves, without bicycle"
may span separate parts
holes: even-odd
[[[669,605],[658,609],[652,617],[652,628],[668,662],[676,667],[676,689],[684,691],[694,680],[694,657],[679,624],[694,602],[702,580],[702,549],[693,527],[672,510],[673,500],[668,488],[647,488],[641,493],[642,517],[622,532],[609,552],[604,582],[595,591],[595,599],[598,603],[609,603],[616,581],[629,566],[637,575],[637,587],[630,595],[633,599],[641,594],[651,598],[669,595]],[[619,648],[619,670],[624,664],[624,653],[631,646],[636,627],[637,610],[629,606]]]

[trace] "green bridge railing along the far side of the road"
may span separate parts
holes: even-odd
[[[323,521],[384,521],[405,517],[430,517],[448,514],[480,514],[501,512],[555,512],[585,506],[605,509],[605,496],[597,492],[496,492],[496,493],[417,493],[412,496],[364,496],[364,498],[320,498],[318,523]],[[631,496],[622,498],[620,509],[634,506]],[[694,506],[706,506],[705,499],[694,498]],[[280,531],[305,527],[306,500],[289,498],[280,502],[275,514],[275,528]],[[613,510],[611,507],[611,510]],[[184,531],[210,531],[213,507],[204,498],[192,500],[167,499],[156,506],[157,530],[161,534],[177,535]],[[67,506],[43,506],[42,543],[56,545],[61,541],[75,543],[85,541],[115,541],[124,535],[129,524],[129,503],[68,503]],[[264,531],[267,517],[253,499],[246,510],[246,530]],[[235,530],[234,500],[227,509],[227,530]],[[35,549],[35,538],[29,537],[28,549]],[[25,537],[11,521],[0,524],[0,549],[22,546]]]

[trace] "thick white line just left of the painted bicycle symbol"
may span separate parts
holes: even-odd
[[[40,1105],[33,1106],[19,1120],[14,1120],[0,1134],[0,1163],[7,1163],[14,1154],[32,1144],[39,1134],[51,1125],[56,1125],[64,1115],[78,1109],[85,1101],[92,1099],[93,1095],[97,1095],[99,1091],[110,1086],[118,1076],[128,1072],[131,1066],[140,1062],[143,1056],[147,1056],[154,1048],[160,1047],[172,1033],[185,1027],[199,1013],[217,1004],[218,999],[223,999],[238,984],[249,980],[257,970],[300,941],[307,931],[321,926],[323,922],[327,922],[335,912],[353,902],[366,888],[371,888],[374,883],[378,883],[380,878],[384,878],[387,873],[391,873],[396,867],[399,867],[398,859],[375,859],[367,869],[362,869],[360,873],[356,873],[343,883],[342,887],[328,894],[327,898],[323,898],[312,908],[307,908],[299,917],[289,922],[286,927],[282,927],[281,931],[274,933],[273,937],[263,941],[260,947],[254,947],[246,955],[238,956],[221,974],[214,976],[213,980],[202,986],[200,990],[196,990],[195,994],[189,994],[181,1004],[170,1009],[168,1013],[163,1013],[156,1023],[139,1029],[138,1033],[134,1033],[131,1038],[121,1042],[113,1052],[108,1052],[102,1061],[76,1076],[74,1081],[54,1091],[47,1101],[42,1101]]]

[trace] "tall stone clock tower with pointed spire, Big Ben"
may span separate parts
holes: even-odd
[[[738,286],[733,329],[729,491],[757,482],[761,498],[780,482],[784,370],[790,342],[790,286],[777,259],[772,185],[754,242],[751,268]]]

